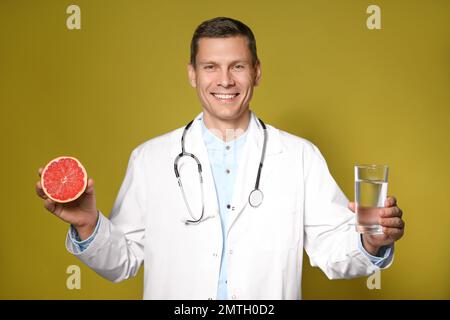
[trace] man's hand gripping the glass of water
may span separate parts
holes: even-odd
[[[405,222],[402,219],[403,212],[397,207],[395,197],[387,197],[385,207],[378,211],[378,223],[383,228],[383,234],[363,234],[364,249],[376,256],[382,246],[393,244],[399,240],[405,232]],[[350,202],[348,208],[355,212],[355,203]]]

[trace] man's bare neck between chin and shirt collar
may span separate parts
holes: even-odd
[[[225,142],[239,138],[248,128],[250,123],[250,110],[246,110],[237,119],[223,120],[212,117],[203,112],[203,121],[206,128]]]

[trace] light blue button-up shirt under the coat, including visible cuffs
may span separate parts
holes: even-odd
[[[247,131],[237,139],[225,142],[206,128],[203,118],[199,118],[197,121],[202,122],[202,136],[208,151],[209,162],[217,191],[217,200],[219,203],[220,220],[222,223],[223,249],[220,263],[217,299],[225,300],[228,299],[227,255],[225,254],[225,252],[227,252],[226,230],[228,229],[229,210],[233,206],[231,200],[233,196],[238,163],[243,153]],[[97,226],[92,235],[84,241],[80,241],[75,228],[71,228],[69,235],[79,252],[84,251],[94,240],[99,224],[100,220],[97,222]],[[394,254],[393,245],[382,247],[378,253],[379,256],[372,256],[364,249],[361,237],[359,237],[358,245],[360,250],[370,259],[370,261],[379,268],[387,266],[392,260]]]

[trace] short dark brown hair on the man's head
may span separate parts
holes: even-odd
[[[194,31],[191,41],[191,64],[195,66],[200,38],[229,38],[244,36],[247,38],[248,48],[252,54],[253,65],[259,62],[256,53],[256,40],[252,30],[244,23],[226,17],[217,17],[203,21]]]

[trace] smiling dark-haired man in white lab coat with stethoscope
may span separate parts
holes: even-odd
[[[303,248],[330,279],[392,262],[404,232],[395,199],[379,211],[384,234],[361,236],[317,147],[250,111],[261,65],[246,25],[203,22],[188,75],[203,112],[132,152],[109,219],[92,179],[71,204],[38,183],[45,207],[71,224],[71,253],[114,282],[144,262],[145,299],[299,299]]]

